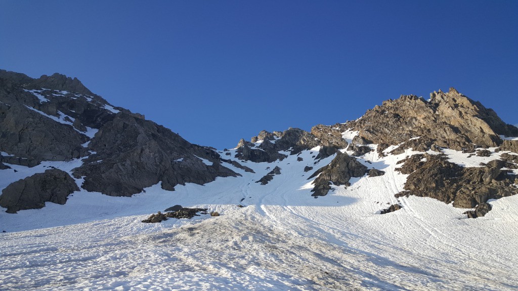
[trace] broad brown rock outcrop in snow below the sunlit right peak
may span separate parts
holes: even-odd
[[[509,170],[502,170],[505,161],[494,160],[485,167],[463,168],[450,163],[444,156],[417,154],[405,160],[398,168],[410,174],[405,190],[396,195],[431,197],[454,207],[473,208],[488,199],[518,194],[518,177]]]

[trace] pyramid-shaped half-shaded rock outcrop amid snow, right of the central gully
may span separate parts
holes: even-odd
[[[336,157],[333,161],[318,171],[314,172],[309,179],[316,177],[313,184],[313,194],[311,196],[325,196],[330,190],[330,183],[336,186],[346,185],[349,186],[349,180],[351,177],[363,177],[367,172],[367,167],[359,163],[356,158],[337,152]]]

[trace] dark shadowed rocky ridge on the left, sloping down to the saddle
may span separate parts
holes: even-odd
[[[42,161],[82,158],[80,167],[61,174],[71,181],[70,176],[84,179],[84,190],[111,196],[131,196],[157,183],[172,191],[178,184],[239,175],[224,167],[213,149],[191,144],[141,114],[114,107],[77,78],[61,74],[33,79],[0,70],[0,151],[0,169],[8,168],[6,164],[34,167]],[[232,164],[240,166],[236,163]],[[38,180],[32,183],[34,195],[22,193],[29,198],[15,201],[11,197],[16,183],[0,196],[9,211],[66,200],[61,194],[47,195]]]

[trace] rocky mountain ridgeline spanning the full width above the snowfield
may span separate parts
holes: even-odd
[[[347,138],[344,133],[354,134]],[[60,74],[33,79],[0,70],[0,174],[16,171],[13,165],[32,168],[48,161],[77,161],[71,169],[53,167],[13,181],[4,187],[0,206],[16,213],[44,207],[45,202],[64,204],[79,188],[132,196],[160,183],[164,190],[174,191],[185,183],[238,177],[233,168],[253,172],[246,163],[268,164],[303,151],[314,153],[312,165],[319,167],[301,171],[314,178],[308,195],[317,198],[335,186],[350,186],[351,178],[382,176],[384,171],[368,167],[369,159],[411,149],[418,153],[401,160],[397,170],[408,178],[397,195],[475,208],[518,193],[513,171],[518,168],[518,140],[506,137],[518,137],[518,128],[451,88],[431,93],[429,100],[414,95],[389,99],[355,121],[316,125],[310,132],[263,130],[250,141],[241,139],[233,150],[218,152],[192,144],[141,114],[110,105],[78,79]],[[449,161],[446,149],[498,156],[478,167],[463,167]],[[324,159],[330,162],[321,165]],[[282,169],[276,167],[257,182],[268,187],[279,174]]]

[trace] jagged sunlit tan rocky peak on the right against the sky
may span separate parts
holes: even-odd
[[[413,146],[463,150],[498,147],[502,143],[499,135],[518,136],[518,128],[454,88],[448,93],[431,93],[428,101],[415,95],[386,100],[367,110],[362,118],[348,122],[347,127],[378,144],[380,153],[390,145],[417,137],[423,144],[413,142]]]

